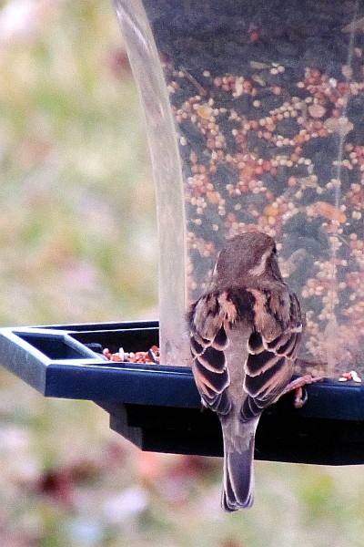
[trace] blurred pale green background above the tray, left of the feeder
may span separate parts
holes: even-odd
[[[0,38],[0,322],[135,318],[157,303],[157,228],[111,3],[26,4]]]

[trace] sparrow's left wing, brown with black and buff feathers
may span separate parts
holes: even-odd
[[[237,319],[237,306],[227,291],[204,294],[188,315],[197,389],[203,403],[219,414],[227,414],[231,407],[225,350],[229,344],[227,329]]]

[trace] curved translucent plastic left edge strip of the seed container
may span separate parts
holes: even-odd
[[[145,9],[140,0],[115,0],[115,5],[144,108],[156,183],[161,362],[187,365],[186,220],[177,133],[166,80]]]

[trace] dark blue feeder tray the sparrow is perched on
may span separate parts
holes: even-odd
[[[0,329],[0,362],[45,397],[87,399],[110,427],[144,450],[222,456],[217,416],[202,411],[190,368],[106,361],[100,348],[147,351],[158,324],[52,325]],[[364,463],[364,387],[331,379],[291,394],[259,421],[256,459],[329,465]]]

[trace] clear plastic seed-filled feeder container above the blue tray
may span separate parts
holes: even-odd
[[[188,304],[258,230],[306,311],[298,372],[363,371],[364,4],[115,4],[157,181],[162,358],[187,358]]]

